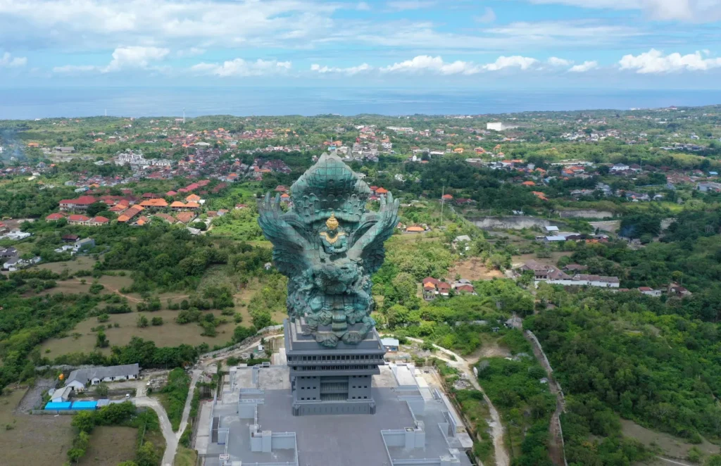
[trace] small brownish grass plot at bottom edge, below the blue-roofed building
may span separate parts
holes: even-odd
[[[90,436],[90,445],[80,466],[116,466],[135,458],[138,430],[132,427],[98,426]]]

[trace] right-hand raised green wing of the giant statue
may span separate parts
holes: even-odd
[[[353,250],[360,250],[363,265],[369,273],[376,272],[383,265],[386,257],[383,243],[391,237],[398,222],[398,201],[394,201],[391,193],[381,197],[378,212],[367,214],[361,219],[353,238]]]

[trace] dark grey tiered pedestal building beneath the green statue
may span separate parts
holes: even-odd
[[[341,341],[335,348],[326,348],[312,335],[305,335],[304,327],[303,318],[283,321],[293,416],[374,414],[373,375],[380,373],[386,353],[376,329],[357,345]]]

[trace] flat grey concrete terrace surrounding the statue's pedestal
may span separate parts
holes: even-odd
[[[381,374],[373,377],[373,397],[377,406],[373,415],[293,416],[288,367],[255,369],[255,376],[252,371],[252,368],[238,368],[234,381],[226,385],[223,399],[218,400],[213,408],[213,417],[218,418],[218,428],[221,431],[223,428],[229,429],[229,441],[227,447],[225,444],[208,442],[205,454],[207,466],[231,465],[237,461],[254,466],[256,463],[296,465],[296,450],[275,448],[275,442],[270,452],[251,451],[249,429],[255,420],[239,417],[239,399],[262,400],[257,404],[257,423],[262,431],[271,431],[273,436],[295,433],[298,466],[392,466],[396,460],[405,460],[404,464],[409,465],[441,465],[440,457],[447,457],[451,449],[456,447],[457,439],[449,438],[447,441],[439,427],[439,424],[448,425],[443,401],[436,397],[421,397],[419,390],[409,386],[398,387],[396,377],[387,366],[381,366]],[[403,374],[402,380],[410,384],[407,375]],[[241,389],[251,390],[241,392]],[[415,418],[406,401],[409,398],[425,399],[422,411],[414,408]],[[423,447],[389,445],[386,448],[381,431],[414,428],[417,425],[415,421],[422,421],[424,425]],[[223,441],[223,437],[224,434],[220,434],[218,441]],[[218,456],[224,453],[229,455],[227,463],[218,460]],[[454,466],[471,465],[462,451],[456,453],[456,457],[458,461],[452,462]],[[424,459],[438,462],[407,462]]]

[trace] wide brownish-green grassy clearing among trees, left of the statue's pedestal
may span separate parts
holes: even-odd
[[[221,316],[221,312],[217,310],[205,311],[212,312],[216,317]],[[149,326],[139,328],[136,325],[138,319],[138,312],[131,312],[129,314],[113,314],[110,315],[110,321],[105,322],[102,325],[106,327],[110,325],[110,328],[105,330],[107,339],[110,340],[110,346],[126,345],[130,342],[133,336],[138,336],[145,340],[153,340],[156,346],[178,346],[182,343],[188,345],[197,346],[200,343],[208,343],[208,345],[215,346],[222,343],[227,343],[231,340],[233,335],[233,329],[235,324],[232,322],[232,317],[226,317],[229,322],[226,324],[218,325],[216,330],[218,335],[215,337],[206,337],[200,335],[203,332],[203,328],[197,323],[189,323],[185,325],[179,325],[174,322],[178,311],[157,311],[157,312],[143,312],[143,315],[151,319],[152,317],[162,317],[164,324],[159,326]],[[120,325],[118,328],[112,327],[113,324],[117,323]],[[244,320],[244,325],[249,325],[249,319]],[[69,332],[65,338],[52,338],[40,347],[40,353],[49,358],[56,358],[67,353],[79,353],[79,352],[90,352],[95,349],[95,341],[97,333],[92,332],[92,327],[97,327],[96,317],[90,317],[83,322],[80,322],[74,330]],[[79,333],[80,336],[75,338],[72,334]],[[45,351],[50,350],[49,353]],[[110,354],[110,348],[103,348],[102,353]]]

